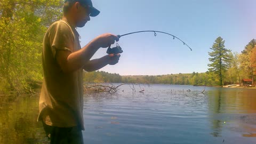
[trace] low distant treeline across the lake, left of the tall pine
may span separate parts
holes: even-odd
[[[84,82],[95,83],[149,83],[178,85],[217,85],[218,79],[209,72],[192,74],[170,74],[157,76],[121,76],[105,71],[84,73]]]

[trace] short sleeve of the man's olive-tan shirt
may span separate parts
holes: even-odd
[[[54,57],[58,50],[70,52],[74,50],[74,36],[66,23],[54,23],[49,31],[49,40]]]

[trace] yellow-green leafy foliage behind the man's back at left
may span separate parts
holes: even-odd
[[[44,33],[60,18],[62,1],[0,2],[0,93],[29,92],[42,81]]]

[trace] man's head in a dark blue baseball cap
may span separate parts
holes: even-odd
[[[90,17],[96,17],[100,11],[92,6],[91,0],[66,0],[63,13],[65,16],[70,15],[77,27],[83,27]]]

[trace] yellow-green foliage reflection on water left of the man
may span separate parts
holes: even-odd
[[[47,143],[37,115],[38,98],[27,95],[0,108],[0,143]]]

